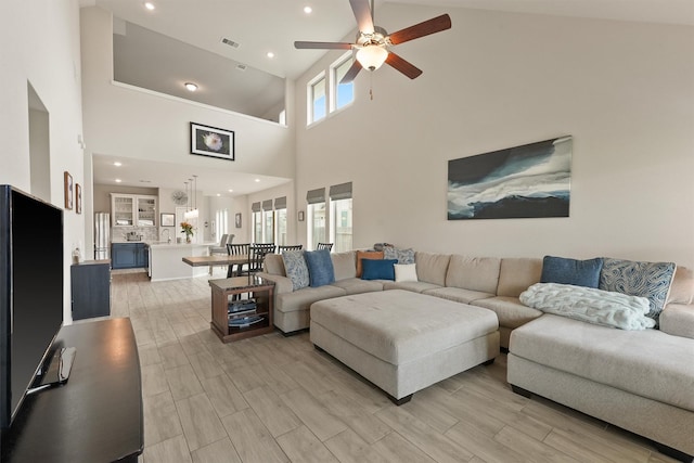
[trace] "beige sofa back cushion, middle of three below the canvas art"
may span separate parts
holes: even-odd
[[[481,293],[497,293],[501,259],[452,255],[446,273],[446,286]]]

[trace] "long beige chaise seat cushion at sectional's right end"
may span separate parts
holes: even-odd
[[[548,313],[514,330],[510,351],[541,365],[694,411],[694,342],[685,337],[657,330],[614,330]]]

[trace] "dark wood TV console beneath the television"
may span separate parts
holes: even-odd
[[[77,349],[67,383],[25,398],[2,435],[2,462],[137,462],[144,446],[138,346],[130,319],[64,326]]]

